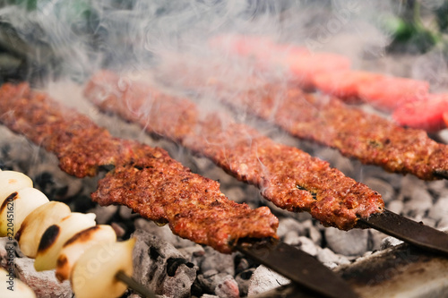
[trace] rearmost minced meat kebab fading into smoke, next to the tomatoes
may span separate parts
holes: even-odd
[[[401,127],[338,98],[306,93],[276,78],[242,74],[223,64],[215,64],[211,71],[209,64],[187,64],[185,58],[172,64],[183,71],[177,77],[171,75],[170,82],[211,92],[229,106],[275,123],[297,138],[314,140],[392,173],[423,180],[448,176],[448,146],[430,139],[425,131]]]

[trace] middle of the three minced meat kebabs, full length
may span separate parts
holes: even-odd
[[[383,211],[380,194],[323,160],[276,143],[226,115],[204,115],[191,100],[162,93],[145,81],[122,81],[113,72],[99,72],[85,94],[102,110],[211,158],[228,174],[256,185],[282,209],[308,211],[323,225],[340,229]]]

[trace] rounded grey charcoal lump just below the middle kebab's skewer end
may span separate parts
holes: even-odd
[[[353,229],[341,231],[333,227],[325,230],[328,247],[346,256],[360,256],[367,251],[368,231]]]

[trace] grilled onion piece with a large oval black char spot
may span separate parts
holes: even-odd
[[[34,268],[37,271],[56,268],[56,260],[64,243],[82,230],[95,226],[95,215],[93,213],[83,214],[71,213],[57,225],[48,226],[40,239]]]

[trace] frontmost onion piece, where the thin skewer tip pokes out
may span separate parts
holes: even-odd
[[[76,298],[119,297],[127,286],[116,273],[133,275],[135,238],[121,243],[99,243],[85,251],[73,267],[70,281]]]

